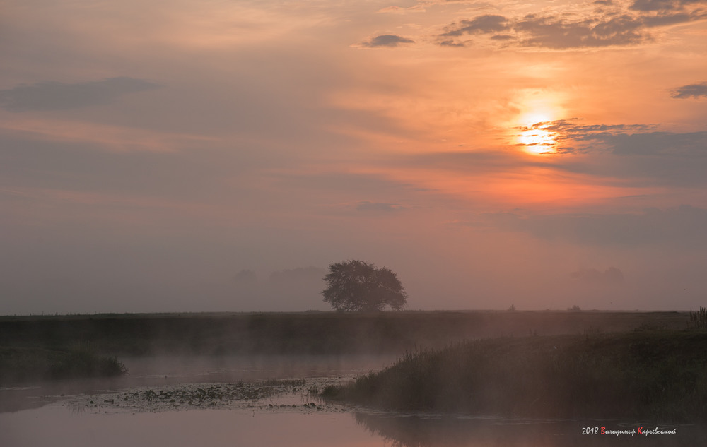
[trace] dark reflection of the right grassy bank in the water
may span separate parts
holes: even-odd
[[[382,436],[395,447],[564,447],[564,446],[704,446],[706,427],[666,425],[675,434],[643,436],[636,434],[583,434],[583,428],[631,431],[655,424],[626,424],[616,421],[527,420],[498,417],[396,415],[355,412],[356,423],[372,434]]]

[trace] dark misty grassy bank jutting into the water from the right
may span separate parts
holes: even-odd
[[[323,395],[397,411],[703,421],[707,331],[464,342],[408,354]]]

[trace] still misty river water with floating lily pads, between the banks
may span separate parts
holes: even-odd
[[[409,415],[332,405],[310,395],[308,388],[380,369],[393,359],[349,356],[304,360],[286,356],[222,358],[216,363],[206,358],[130,359],[131,376],[117,381],[63,383],[61,390],[46,385],[6,388],[0,390],[0,398],[4,403],[15,403],[12,408],[4,405],[0,412],[0,446],[707,445],[707,431],[699,424]],[[237,388],[232,382],[241,383],[238,389],[261,389],[263,379],[292,378],[297,381],[286,382],[278,388],[279,393],[265,397],[221,398],[204,406],[197,400],[180,405],[179,398],[163,399],[173,401],[172,406],[158,405],[158,393],[171,396],[185,390]],[[64,392],[52,394],[55,391]],[[656,425],[665,433],[645,434]],[[594,427],[596,434],[588,431]],[[601,434],[601,427],[612,434]],[[630,433],[639,429],[643,434]]]

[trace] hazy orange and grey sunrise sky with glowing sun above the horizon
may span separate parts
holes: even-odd
[[[0,314],[707,305],[707,1],[5,0]]]

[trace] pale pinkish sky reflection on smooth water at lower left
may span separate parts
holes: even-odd
[[[8,447],[382,447],[348,413],[293,410],[71,412],[59,404],[0,414]]]

